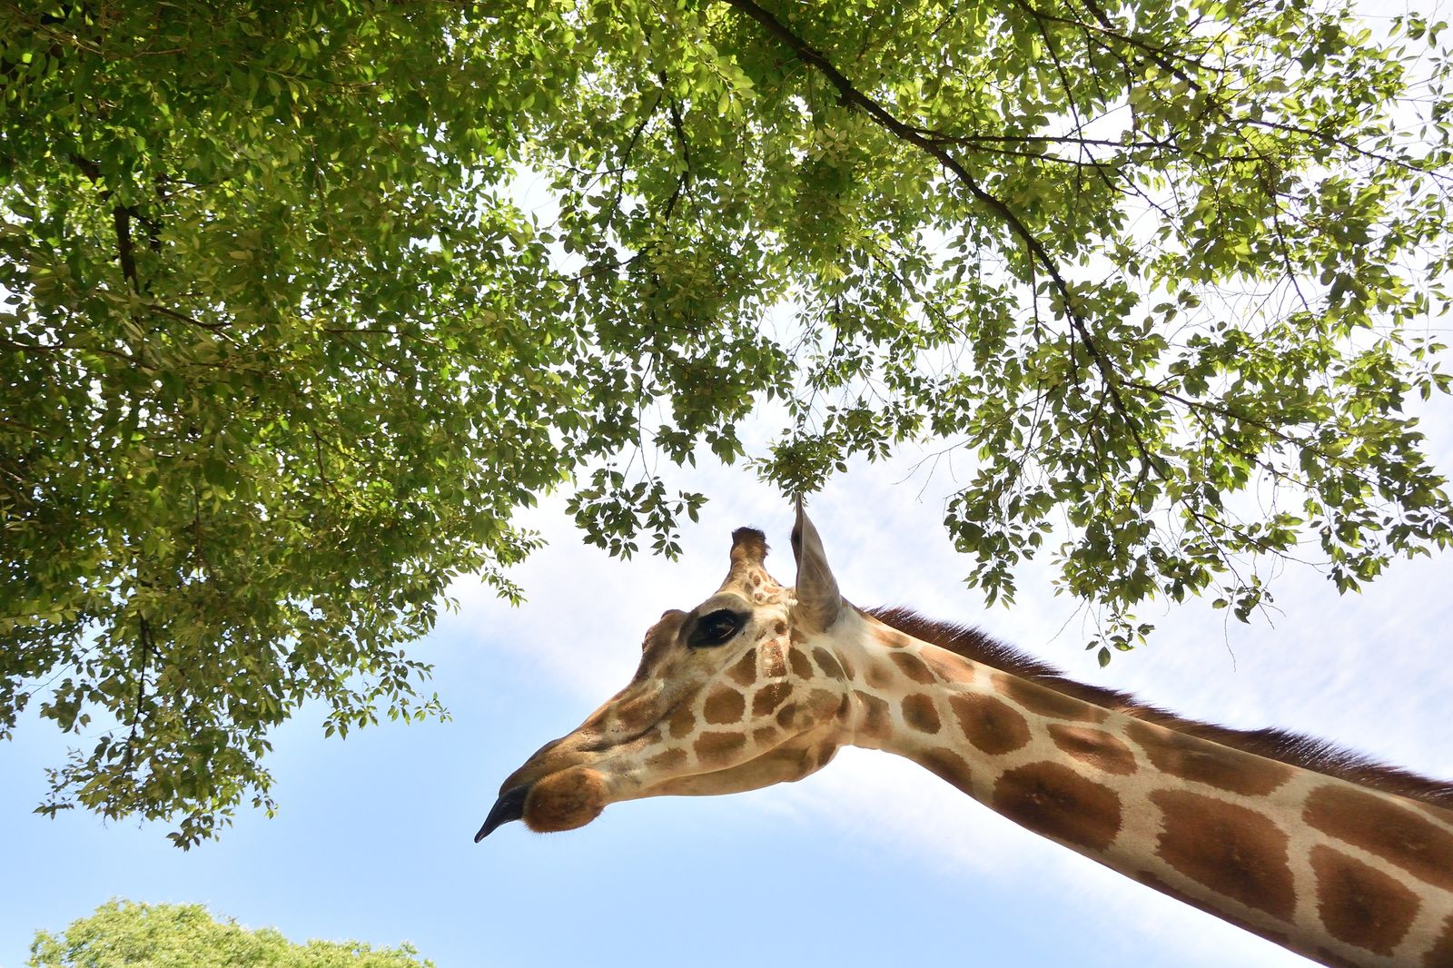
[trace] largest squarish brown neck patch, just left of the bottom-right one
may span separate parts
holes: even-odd
[[[1292,919],[1287,836],[1273,820],[1184,789],[1155,791],[1151,802],[1162,814],[1157,852],[1165,863],[1247,907]]]

